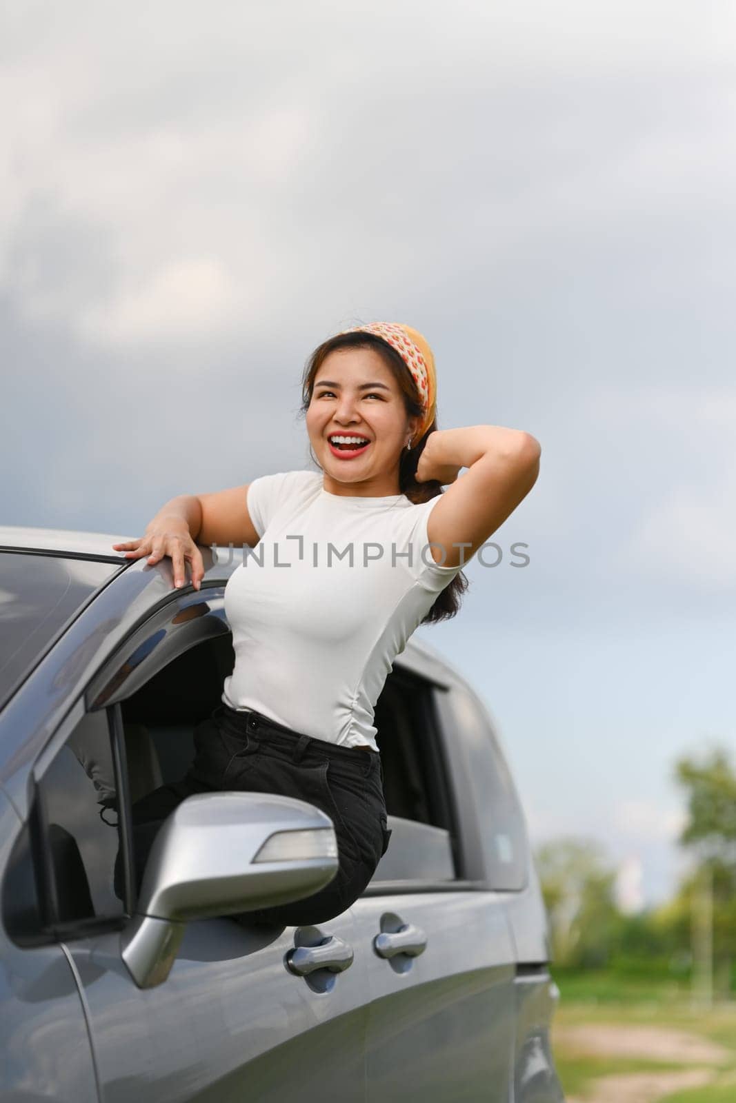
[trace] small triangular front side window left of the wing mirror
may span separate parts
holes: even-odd
[[[108,713],[89,713],[36,779],[31,818],[3,887],[10,933],[70,939],[121,919],[119,849]]]

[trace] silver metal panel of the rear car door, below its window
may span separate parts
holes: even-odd
[[[353,904],[371,997],[369,1101],[508,1103],[514,970],[498,895],[374,888]]]

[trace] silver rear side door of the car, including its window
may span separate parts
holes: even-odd
[[[508,1103],[511,932],[503,895],[468,877],[459,825],[467,808],[437,692],[396,671],[376,709],[392,836],[353,904],[371,997],[367,1099]]]

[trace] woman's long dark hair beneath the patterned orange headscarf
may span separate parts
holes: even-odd
[[[373,333],[343,333],[339,336],[329,338],[321,345],[318,345],[305,365],[301,379],[301,414],[306,415],[312,400],[314,378],[322,362],[335,349],[374,349],[396,379],[404,397],[404,406],[406,407],[407,415],[409,417],[422,416],[422,404],[412,373],[396,350],[392,349],[387,341]],[[438,494],[442,493],[442,484],[437,482],[437,480],[423,483],[416,480],[419,457],[425,449],[429,435],[435,432],[436,429],[437,418],[435,417],[422,440],[412,448],[410,452],[407,452],[405,448],[402,449],[402,456],[398,461],[399,491],[417,505],[420,502],[428,502],[429,499],[437,497]],[[319,468],[311,446],[309,451],[312,460]],[[433,624],[436,621],[449,620],[450,617],[455,617],[460,610],[461,596],[468,589],[468,585],[469,582],[465,574],[461,570],[458,571],[452,581],[448,582],[445,589],[440,590],[437,595],[437,600],[420,623]]]

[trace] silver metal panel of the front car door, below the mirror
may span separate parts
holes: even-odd
[[[269,934],[227,919],[189,923],[171,973],[146,990],[119,939],[70,943],[105,1103],[363,1101],[361,965],[328,979],[285,964],[296,944],[330,939],[354,945],[350,913]]]

